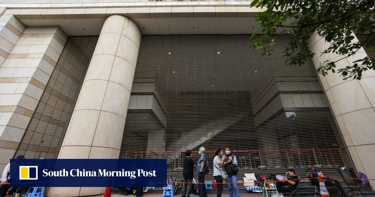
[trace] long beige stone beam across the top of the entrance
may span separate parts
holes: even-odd
[[[107,18],[119,14],[129,18],[254,17],[260,8],[250,1],[148,1],[125,3],[0,4],[11,8],[5,14],[20,20]],[[26,9],[27,8],[27,9]]]

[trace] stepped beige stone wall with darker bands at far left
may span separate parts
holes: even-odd
[[[12,15],[0,20],[4,25],[0,32],[0,164],[4,166],[13,158],[68,36],[56,26],[25,28]]]

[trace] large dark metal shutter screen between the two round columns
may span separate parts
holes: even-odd
[[[312,61],[285,66],[287,39],[258,58],[249,37],[142,36],[120,158],[167,158],[179,179],[201,146],[210,162],[231,146],[240,173],[353,166]]]

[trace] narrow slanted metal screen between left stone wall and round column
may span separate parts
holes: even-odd
[[[98,38],[69,37],[16,155],[57,158]]]

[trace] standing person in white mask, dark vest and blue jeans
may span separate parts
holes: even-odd
[[[236,156],[231,153],[231,147],[225,147],[225,155],[223,156],[224,160],[224,170],[228,174],[228,177],[225,179],[226,186],[228,187],[229,197],[240,197],[240,192],[238,189],[238,174],[231,170],[231,166],[237,166]],[[228,184],[229,183],[229,184]]]

